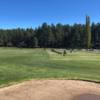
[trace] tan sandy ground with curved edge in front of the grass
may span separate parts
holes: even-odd
[[[100,100],[100,84],[74,80],[31,80],[1,88],[0,100]]]

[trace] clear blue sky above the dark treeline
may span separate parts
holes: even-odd
[[[0,28],[100,22],[100,0],[0,0]]]

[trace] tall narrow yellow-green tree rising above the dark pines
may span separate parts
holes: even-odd
[[[91,48],[91,26],[90,26],[90,17],[86,16],[86,41],[87,41],[87,48]]]

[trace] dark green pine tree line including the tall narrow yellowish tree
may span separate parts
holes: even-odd
[[[86,25],[43,23],[36,29],[0,29],[0,46],[25,48],[100,48],[100,23]]]

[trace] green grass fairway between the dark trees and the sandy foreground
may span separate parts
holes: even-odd
[[[0,85],[44,78],[100,82],[100,54],[68,51],[62,56],[50,49],[0,48]]]

